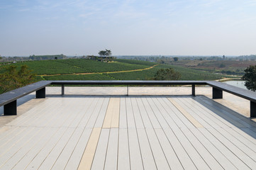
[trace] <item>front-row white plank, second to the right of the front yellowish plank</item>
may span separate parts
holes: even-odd
[[[118,128],[111,128],[108,138],[108,149],[106,151],[106,170],[117,169],[118,158]]]

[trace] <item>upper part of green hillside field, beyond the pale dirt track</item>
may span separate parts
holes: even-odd
[[[156,63],[138,62],[137,64],[129,62],[99,62],[95,60],[85,60],[85,59],[69,59],[69,60],[40,60],[40,61],[30,61],[30,62],[17,62],[13,63],[17,67],[26,64],[28,68],[33,70],[35,74],[72,74],[72,73],[91,73],[91,72],[117,72],[123,70],[132,69],[145,69]],[[1,69],[4,67],[0,66]]]

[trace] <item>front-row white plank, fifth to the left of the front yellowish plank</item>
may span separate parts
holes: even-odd
[[[46,143],[51,139],[52,135],[55,135],[58,128],[50,128],[49,132],[44,136],[40,137],[39,142],[37,142],[32,149],[13,167],[13,170],[26,169],[26,166],[33,160],[33,158],[40,152],[41,149],[46,145]]]

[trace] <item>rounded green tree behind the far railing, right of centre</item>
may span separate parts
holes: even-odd
[[[174,69],[159,69],[155,74],[155,80],[178,80],[180,79],[181,74],[179,72],[175,72]]]

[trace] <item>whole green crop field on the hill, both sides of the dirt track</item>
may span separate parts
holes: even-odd
[[[158,64],[138,60],[115,60],[115,62],[99,62],[96,60],[40,60],[13,63],[17,67],[26,64],[37,74],[39,80],[149,80],[155,76],[157,70],[172,67],[182,74],[182,80],[214,80],[222,79],[222,74],[216,74],[179,65]],[[0,66],[0,73],[4,72],[4,65]],[[145,69],[142,71],[121,72],[127,70]],[[111,72],[111,73],[109,73]],[[82,74],[94,73],[94,74]],[[54,75],[56,74],[56,75]],[[225,76],[227,77],[227,76]]]

